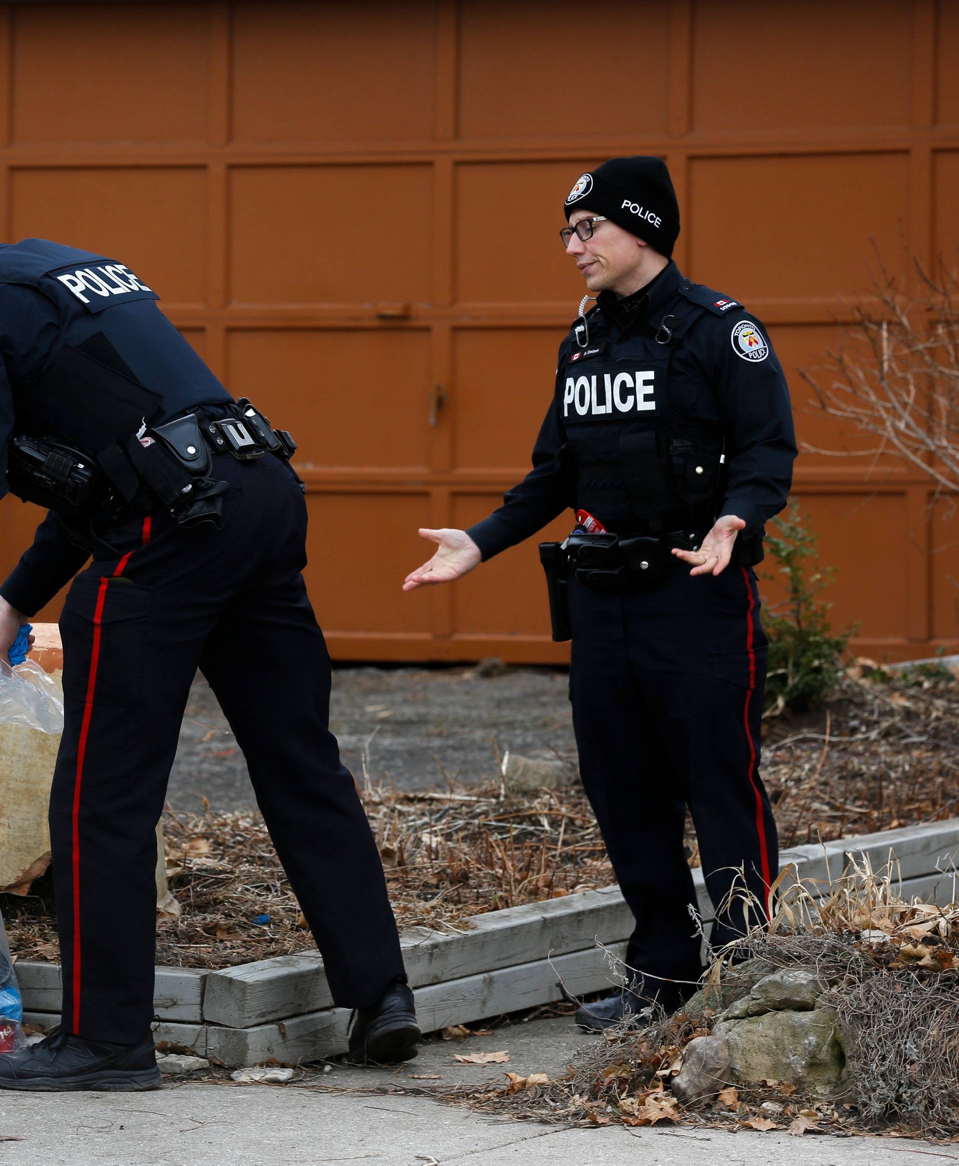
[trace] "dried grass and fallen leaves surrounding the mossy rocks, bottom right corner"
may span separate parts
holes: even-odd
[[[944,880],[953,901],[935,907],[902,898],[895,864],[873,871],[854,862],[824,887],[784,873],[769,932],[756,929],[736,944],[737,961],[814,969],[830,985],[824,1003],[835,1012],[848,1074],[833,1097],[779,1082],[728,1088],[688,1105],[671,1093],[685,1046],[712,1031],[716,1012],[708,1003],[719,1009],[751,984],[730,951],[715,953],[699,1002],[672,1017],[649,1010],[607,1031],[562,1080],[447,1096],[484,1112],[576,1125],[682,1121],[959,1140],[959,904],[954,874]]]

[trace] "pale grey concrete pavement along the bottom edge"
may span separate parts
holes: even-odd
[[[186,1084],[148,1094],[0,1096],[5,1166],[929,1166],[919,1143],[491,1121],[404,1094]]]

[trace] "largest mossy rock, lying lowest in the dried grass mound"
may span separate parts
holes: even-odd
[[[714,1035],[726,1038],[730,1073],[742,1084],[785,1081],[831,1093],[842,1077],[846,1058],[833,1018],[824,1009],[724,1018]]]

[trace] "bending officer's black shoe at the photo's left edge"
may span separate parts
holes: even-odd
[[[160,1089],[162,1084],[152,1035],[139,1045],[110,1045],[55,1028],[22,1053],[0,1055],[0,1089],[119,1093]]]

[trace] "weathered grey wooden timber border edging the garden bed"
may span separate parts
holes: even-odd
[[[959,865],[959,819],[839,838],[783,851],[783,866],[825,884],[848,856],[866,855],[878,870],[895,855],[905,897],[947,902],[956,897],[947,871]],[[705,922],[712,905],[702,873],[693,871]],[[611,983],[596,942],[622,956],[632,916],[618,887],[584,891],[545,902],[475,915],[463,932],[413,928],[404,957],[425,1032],[483,1020]],[[60,1010],[60,968],[18,961],[26,1019],[52,1025]],[[158,968],[156,1040],[214,1056],[230,1068],[332,1056],[346,1048],[346,1009],[332,1007],[316,953],[276,956],[205,971]]]

